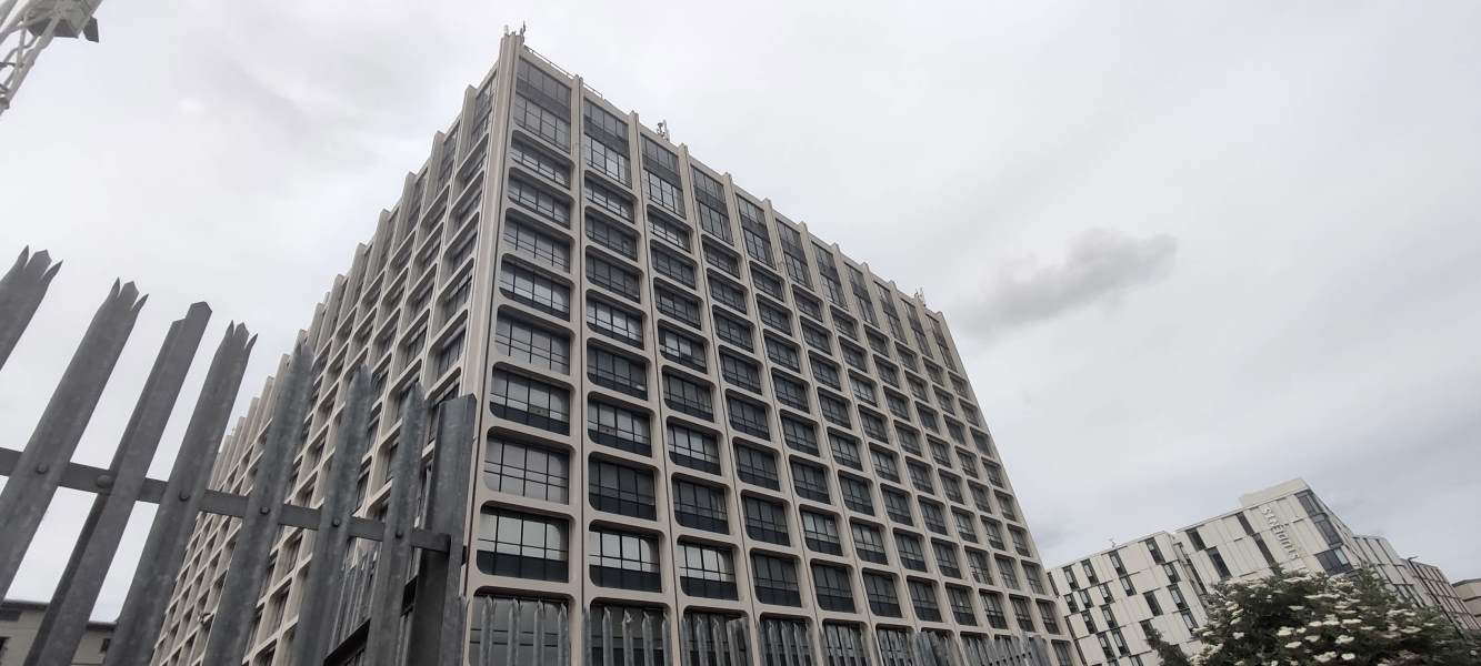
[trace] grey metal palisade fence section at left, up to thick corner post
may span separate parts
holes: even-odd
[[[46,296],[59,263],[22,252],[0,277],[0,369]],[[314,556],[292,648],[295,666],[390,666],[462,662],[461,595],[467,522],[472,397],[428,406],[419,386],[403,404],[400,441],[434,443],[425,511],[418,517],[422,447],[397,447],[385,518],[355,517],[355,475],[367,448],[370,379],[364,367],[347,392],[321,506],[284,503],[299,425],[308,410],[314,354],[299,343],[277,377],[264,454],[250,494],[207,488],[255,337],[231,324],[218,345],[167,480],[147,477],[185,374],[200,348],[210,308],[191,305],[156,357],[111,465],[71,462],[83,431],[129,340],[145,297],[114,283],[37,420],[25,448],[0,447],[0,596],[15,582],[58,488],[92,493],[93,505],[47,605],[27,666],[73,663],[104,579],[135,505],[158,505],[124,599],[105,666],[147,666],[198,514],[241,521],[222,583],[203,663],[241,663],[273,540],[281,527],[314,530]],[[432,429],[435,437],[428,437]],[[418,518],[421,525],[416,527]],[[413,552],[421,551],[415,558]],[[416,564],[415,571],[412,564]],[[415,573],[415,576],[412,576]]]

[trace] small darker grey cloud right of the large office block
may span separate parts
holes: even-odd
[[[1114,305],[1127,292],[1166,278],[1176,256],[1171,235],[1136,238],[1091,228],[1069,241],[1062,263],[1041,266],[1029,259],[1006,266],[985,297],[963,309],[979,332],[997,333],[1094,303]]]

